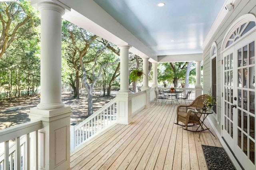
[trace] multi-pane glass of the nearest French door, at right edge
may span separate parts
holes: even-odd
[[[237,49],[237,125],[235,154],[238,159],[248,158],[255,165],[255,44]],[[243,156],[244,153],[245,155]]]

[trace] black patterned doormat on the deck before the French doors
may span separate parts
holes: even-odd
[[[208,170],[236,170],[224,148],[202,145]]]

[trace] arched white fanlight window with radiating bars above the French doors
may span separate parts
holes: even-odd
[[[253,28],[256,26],[255,16],[252,14],[245,14],[238,18],[238,20],[240,21],[232,24],[224,36],[226,39],[223,41],[222,50],[238,41],[242,36],[253,31]]]

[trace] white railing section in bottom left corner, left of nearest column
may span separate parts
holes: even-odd
[[[0,130],[0,170],[38,169],[38,130],[42,121],[31,121]]]

